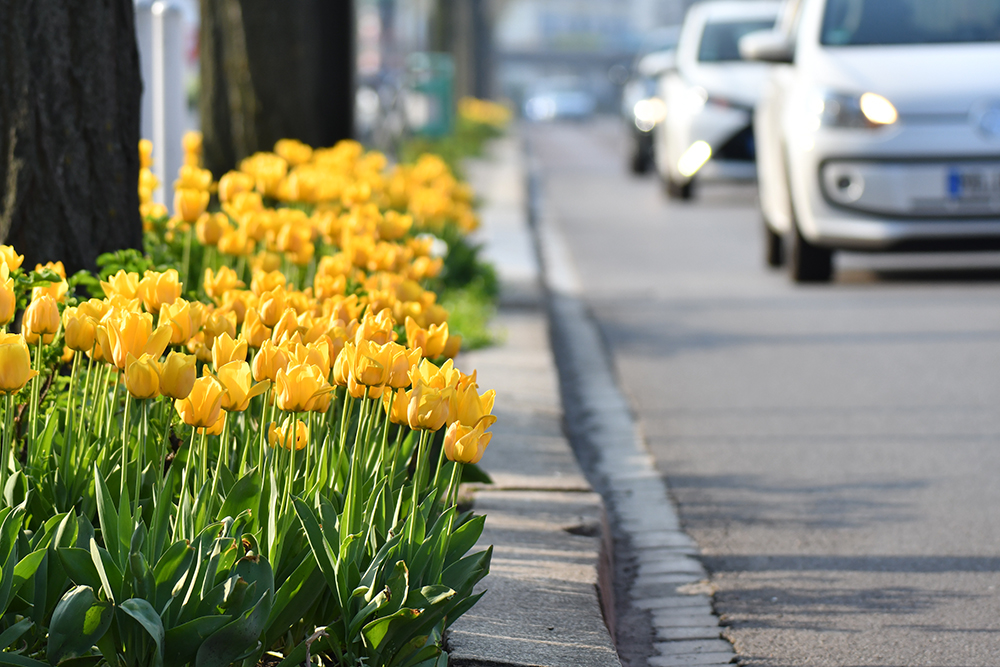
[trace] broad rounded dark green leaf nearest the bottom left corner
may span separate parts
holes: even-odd
[[[90,586],[75,586],[63,595],[49,625],[49,662],[57,665],[83,655],[111,627],[114,605],[97,599]]]

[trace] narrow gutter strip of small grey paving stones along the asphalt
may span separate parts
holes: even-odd
[[[530,154],[530,147],[527,147]],[[614,527],[619,653],[627,667],[735,662],[712,611],[698,547],[682,530],[666,484],[618,388],[610,354],[587,311],[580,281],[546,206],[537,166],[529,171],[532,229],[547,292],[552,348],[566,427]],[[627,620],[626,620],[627,619]],[[625,625],[628,632],[625,633]]]

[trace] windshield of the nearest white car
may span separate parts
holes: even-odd
[[[1000,41],[1000,0],[828,0],[826,46]]]

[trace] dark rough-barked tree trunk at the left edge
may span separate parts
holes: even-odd
[[[133,0],[0,0],[0,239],[93,269],[142,247]]]

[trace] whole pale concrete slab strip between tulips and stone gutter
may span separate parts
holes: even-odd
[[[611,570],[599,567],[610,553],[604,509],[563,435],[521,146],[507,137],[490,150],[468,164],[468,177],[484,201],[479,240],[501,279],[501,340],[458,361],[497,392],[482,460],[494,484],[469,489],[487,517],[480,544],[494,553],[489,592],[448,634],[450,664],[620,667],[598,592],[598,572]]]

